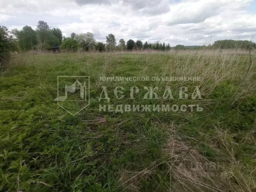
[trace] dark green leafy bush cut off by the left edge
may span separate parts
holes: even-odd
[[[0,65],[8,62],[12,50],[12,36],[5,26],[0,25]]]

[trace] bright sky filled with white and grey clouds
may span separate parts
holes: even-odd
[[[36,28],[44,20],[69,37],[92,32],[97,41],[112,33],[171,46],[221,39],[256,41],[256,0],[1,0],[0,25]]]

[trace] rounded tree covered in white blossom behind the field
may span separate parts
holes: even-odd
[[[86,51],[92,50],[96,43],[94,35],[90,32],[75,35],[74,40]]]

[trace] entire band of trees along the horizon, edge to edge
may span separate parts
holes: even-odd
[[[170,47],[170,44],[165,42],[155,41],[154,43],[142,42],[141,40],[134,41],[129,39],[127,42],[120,39],[117,43],[115,35],[109,34],[106,36],[105,43],[97,42],[94,35],[90,32],[76,34],[71,33],[70,37],[62,35],[59,28],[50,28],[44,21],[39,21],[36,29],[26,25],[21,30],[12,29],[9,31],[5,26],[0,26],[0,62],[3,63],[11,51],[28,51],[28,50],[45,50],[60,46],[60,49],[69,51],[113,51],[113,50],[161,50],[168,51],[170,49],[201,49],[201,48],[216,48],[216,49],[234,49],[243,48],[256,49],[256,44],[252,41],[244,40],[218,40],[214,44],[208,46],[184,46],[176,45]]]

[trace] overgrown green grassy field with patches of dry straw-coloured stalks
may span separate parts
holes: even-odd
[[[253,191],[255,58],[237,50],[13,56],[0,77],[0,191]],[[58,106],[57,76],[90,76],[90,105],[75,116]],[[102,86],[110,102],[99,101]],[[116,99],[116,86],[126,97]],[[133,86],[140,92],[132,100]],[[144,86],[158,86],[161,98],[143,100]],[[166,86],[174,99],[162,98]],[[195,86],[202,99],[191,99]],[[99,111],[109,103],[200,104],[203,111]]]

